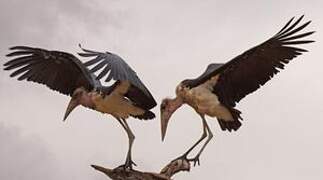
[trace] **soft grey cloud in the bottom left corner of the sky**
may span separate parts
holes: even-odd
[[[41,138],[0,123],[0,143],[0,179],[61,179],[60,165]]]

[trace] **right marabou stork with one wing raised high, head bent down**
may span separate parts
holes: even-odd
[[[183,104],[188,104],[202,118],[203,134],[180,158],[187,158],[187,155],[208,136],[197,155],[190,159],[194,165],[199,164],[202,151],[213,137],[205,115],[216,117],[223,131],[238,130],[242,117],[241,112],[235,108],[236,103],[264,85],[293,58],[306,52],[305,49],[293,45],[314,42],[300,40],[313,34],[314,31],[296,34],[311,22],[296,27],[302,19],[303,16],[293,22],[292,18],[276,35],[264,43],[225,64],[210,64],[196,79],[182,81],[176,88],[176,97],[165,98],[162,101],[160,107],[162,140],[165,138],[171,115]]]

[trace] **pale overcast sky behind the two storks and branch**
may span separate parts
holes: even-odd
[[[306,45],[310,52],[239,103],[245,121],[238,132],[222,132],[209,119],[215,138],[201,166],[176,179],[320,180],[322,7],[320,0],[2,0],[0,54],[3,63],[13,45],[75,53],[82,43],[109,50],[127,60],[160,102],[209,63],[230,60],[305,14],[313,20],[308,30],[317,31],[317,42]],[[112,117],[78,108],[63,123],[68,97],[8,75],[0,71],[1,180],[103,180],[90,164],[124,162],[127,137]],[[172,119],[164,143],[159,118],[129,120],[139,169],[159,171],[200,137],[200,119],[191,108]]]

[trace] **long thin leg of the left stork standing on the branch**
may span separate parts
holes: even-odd
[[[132,169],[132,165],[136,166],[136,164],[132,161],[132,158],[131,158],[131,154],[132,154],[131,150],[132,150],[133,142],[135,140],[135,135],[132,133],[132,131],[131,131],[131,129],[130,129],[130,127],[129,127],[126,120],[118,119],[118,121],[122,125],[122,127],[125,129],[125,131],[127,132],[128,139],[129,139],[129,148],[128,148],[127,158],[126,158],[126,162],[124,164],[124,167]]]

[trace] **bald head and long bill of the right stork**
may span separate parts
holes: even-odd
[[[167,130],[168,122],[172,116],[172,114],[183,104],[183,101],[180,98],[163,99],[160,105],[160,120],[161,120],[161,135],[162,140],[164,140]]]

